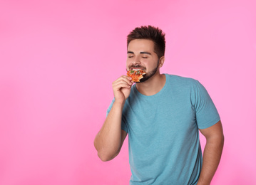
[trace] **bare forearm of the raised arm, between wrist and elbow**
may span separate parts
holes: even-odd
[[[94,146],[103,161],[113,159],[121,146],[121,119],[123,104],[113,103],[101,130],[96,135]]]

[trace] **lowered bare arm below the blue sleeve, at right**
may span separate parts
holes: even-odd
[[[220,163],[222,154],[224,144],[222,124],[219,121],[212,127],[199,130],[205,136],[206,144],[203,152],[203,166],[198,179],[198,185],[209,185]]]

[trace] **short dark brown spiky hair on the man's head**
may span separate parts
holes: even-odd
[[[165,33],[154,26],[141,26],[135,28],[127,36],[127,48],[130,41],[135,39],[148,39],[154,43],[154,51],[158,58],[165,56]]]

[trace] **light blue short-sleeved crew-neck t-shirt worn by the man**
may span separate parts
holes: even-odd
[[[197,184],[203,161],[198,128],[208,128],[220,120],[198,80],[165,77],[164,87],[155,95],[143,95],[133,85],[123,107],[130,184]]]

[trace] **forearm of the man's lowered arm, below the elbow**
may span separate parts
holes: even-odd
[[[207,139],[203,153],[203,165],[198,180],[198,185],[209,185],[212,181],[217,166],[220,163],[224,144],[224,136],[211,137]]]

